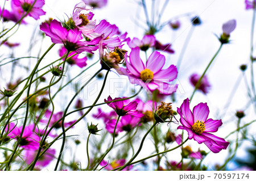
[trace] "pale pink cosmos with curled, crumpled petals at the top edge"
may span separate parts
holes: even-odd
[[[75,22],[77,28],[79,28],[83,35],[88,35],[89,33],[94,32],[94,28],[96,27],[96,20],[92,20],[93,13],[89,12],[88,14],[82,14],[81,11],[91,11],[92,7],[86,7],[84,2],[77,3],[74,10],[72,19]]]

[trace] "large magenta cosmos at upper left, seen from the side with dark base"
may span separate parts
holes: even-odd
[[[50,24],[43,23],[40,25],[40,30],[51,37],[52,43],[64,44],[64,47],[68,51],[75,51],[76,53],[89,52],[98,49],[98,43],[102,39],[101,36],[93,39],[92,41],[81,41],[81,31],[75,28],[73,30],[67,30],[56,19],[53,19]]]

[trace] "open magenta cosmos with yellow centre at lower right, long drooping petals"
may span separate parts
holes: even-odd
[[[213,153],[218,153],[228,147],[229,142],[210,133],[217,132],[218,127],[222,125],[222,121],[207,119],[209,115],[207,103],[197,104],[192,113],[187,98],[181,104],[181,107],[177,108],[177,113],[180,115],[180,123],[182,124],[177,129],[187,131],[190,140],[193,138],[199,144],[204,143]]]

